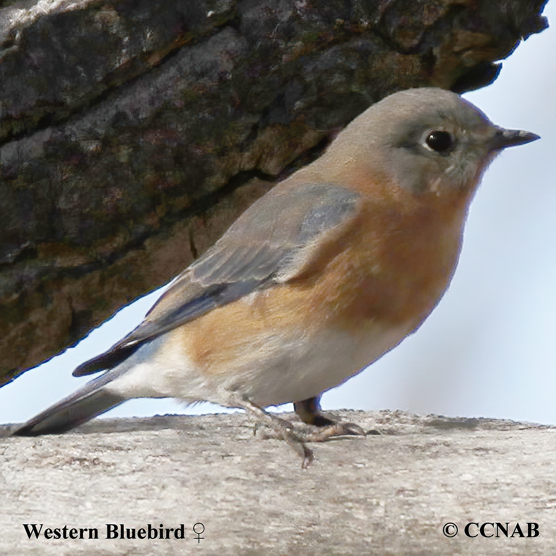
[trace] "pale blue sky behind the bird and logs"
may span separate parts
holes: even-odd
[[[327,392],[324,410],[401,408],[556,424],[556,2],[544,15],[554,29],[520,44],[493,85],[464,95],[494,123],[542,139],[508,148],[489,168],[471,205],[454,280],[425,324]],[[132,330],[158,295],[0,388],[0,423],[26,421],[90,380],[73,378],[72,370]],[[103,416],[219,411],[131,400]]]

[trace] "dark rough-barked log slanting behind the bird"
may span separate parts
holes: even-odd
[[[0,9],[0,383],[186,267],[396,90],[470,90],[543,0]],[[264,181],[261,181],[264,180]]]

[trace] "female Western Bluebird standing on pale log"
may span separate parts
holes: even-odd
[[[14,431],[63,433],[131,398],[244,409],[302,457],[365,435],[320,396],[415,332],[448,288],[469,205],[508,130],[456,93],[371,105],[187,267],[130,334],[74,371],[103,371]],[[294,403],[299,424],[269,406]]]

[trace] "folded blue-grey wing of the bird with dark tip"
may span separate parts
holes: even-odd
[[[276,186],[177,277],[135,330],[73,374],[110,369],[147,340],[295,277],[310,263],[311,247],[354,217],[358,197],[332,183]]]

